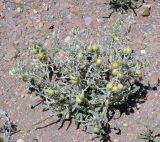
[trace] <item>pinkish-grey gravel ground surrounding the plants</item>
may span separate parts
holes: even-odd
[[[111,27],[120,16],[113,13],[110,18],[102,18],[110,12],[104,0],[0,0],[0,108],[7,111],[11,119],[17,122],[20,133],[13,136],[15,140],[25,142],[91,142],[91,135],[76,130],[74,124],[66,130],[66,125],[58,130],[58,124],[38,129],[55,120],[34,125],[48,117],[39,105],[31,109],[39,98],[28,94],[21,81],[9,74],[9,70],[17,61],[25,61],[28,48],[34,41],[40,41],[52,48],[52,33],[58,29],[61,41],[67,41],[72,27],[78,26],[83,32],[88,28],[92,38],[103,41],[104,29]],[[155,86],[160,77],[160,1],[148,1],[151,13],[142,17],[142,8],[136,10],[137,16],[130,11],[124,14],[135,16],[135,24],[129,35],[132,48],[138,56],[143,56],[150,67],[144,70],[144,83]],[[85,39],[84,39],[85,40]],[[15,56],[17,58],[15,58]],[[149,90],[144,103],[133,107],[132,113],[123,112],[119,119],[113,119],[121,128],[121,135],[111,133],[113,142],[141,142],[137,134],[148,121],[151,126],[160,123],[160,87]],[[118,115],[119,112],[117,111]],[[116,117],[116,116],[115,116]]]

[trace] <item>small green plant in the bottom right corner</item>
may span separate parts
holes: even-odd
[[[139,133],[139,138],[144,139],[146,142],[160,142],[160,134],[157,131],[160,130],[160,124],[150,128],[149,125],[145,125],[145,129]]]

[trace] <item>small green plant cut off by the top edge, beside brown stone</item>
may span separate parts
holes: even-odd
[[[141,4],[138,6],[139,2]],[[127,12],[129,9],[133,10],[134,14],[137,15],[135,9],[141,7],[143,3],[144,0],[110,0],[110,9],[113,9],[113,11],[110,13],[109,17],[114,11],[124,13]]]

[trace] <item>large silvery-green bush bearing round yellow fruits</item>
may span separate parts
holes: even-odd
[[[118,21],[104,46],[82,43],[78,31],[63,48],[34,45],[30,49],[34,62],[24,67],[22,79],[62,123],[73,119],[104,140],[110,107],[139,90],[135,81],[141,77],[143,64],[127,45],[129,30],[124,21]]]

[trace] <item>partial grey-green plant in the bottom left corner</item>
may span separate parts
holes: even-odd
[[[0,109],[0,142],[12,142],[11,136],[16,131],[16,126],[13,124],[8,114]]]

